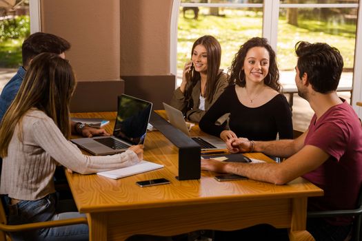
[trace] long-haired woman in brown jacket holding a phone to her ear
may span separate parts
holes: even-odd
[[[228,86],[220,70],[221,46],[213,36],[201,36],[192,45],[191,61],[185,63],[182,82],[174,91],[171,105],[190,121],[199,122]]]

